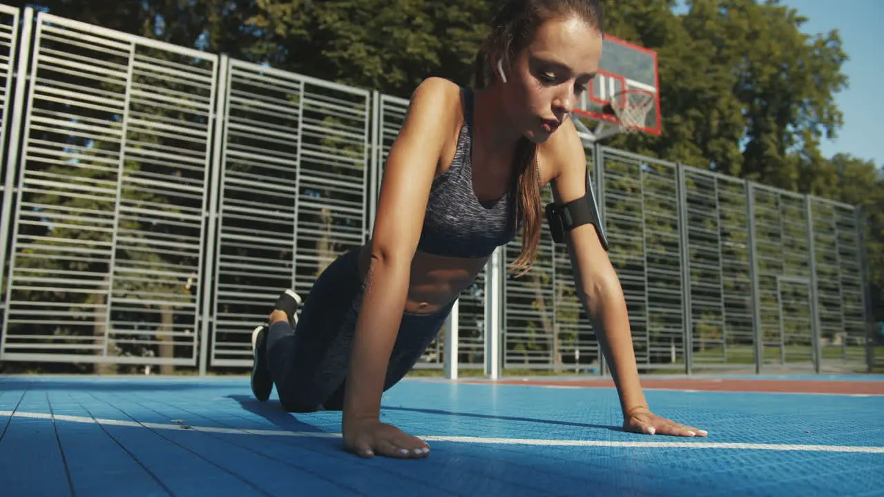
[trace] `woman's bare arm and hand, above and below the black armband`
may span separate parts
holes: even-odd
[[[567,121],[546,145],[544,157],[553,173],[554,201],[568,203],[583,197],[587,192],[586,152],[571,121]],[[575,290],[590,317],[598,344],[610,363],[625,427],[650,433],[705,434],[651,414],[638,377],[626,299],[596,228],[591,224],[577,226],[567,233],[565,239],[574,271]]]

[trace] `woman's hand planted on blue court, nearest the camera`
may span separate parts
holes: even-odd
[[[344,428],[344,447],[355,455],[386,455],[400,459],[420,459],[430,455],[430,446],[392,424],[377,420],[354,421]]]

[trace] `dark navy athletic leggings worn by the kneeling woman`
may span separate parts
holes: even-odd
[[[296,329],[271,325],[267,363],[283,408],[293,412],[343,409],[356,317],[365,291],[359,248],[339,256],[310,289]],[[453,302],[432,314],[405,312],[387,367],[384,390],[403,378],[438,335]]]

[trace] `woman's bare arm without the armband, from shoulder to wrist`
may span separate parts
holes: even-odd
[[[408,297],[411,262],[439,157],[452,129],[448,124],[457,115],[452,109],[460,105],[458,90],[441,79],[425,80],[415,89],[385,164],[366,291],[347,374],[345,436],[359,425],[377,423],[380,416],[387,365]]]

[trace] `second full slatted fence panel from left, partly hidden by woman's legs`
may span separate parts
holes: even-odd
[[[370,92],[229,60],[219,115],[213,365],[251,363],[280,288],[358,247],[370,205]]]

